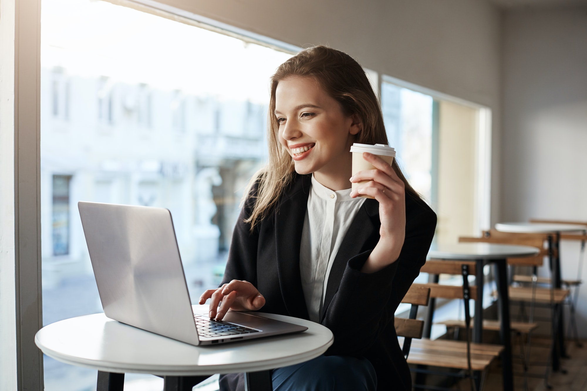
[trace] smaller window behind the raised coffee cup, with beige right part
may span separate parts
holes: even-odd
[[[489,228],[489,110],[383,80],[387,136],[411,186],[437,213],[435,240],[455,243],[459,236],[479,235]]]

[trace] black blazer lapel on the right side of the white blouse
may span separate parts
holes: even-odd
[[[369,245],[370,242],[373,242],[373,246],[375,246],[379,240],[380,225],[379,202],[367,198],[350,224],[345,239],[340,244],[340,248],[332,262],[332,267],[330,267],[320,319],[324,318],[330,301],[338,291],[340,280],[345,273],[349,259],[368,250],[365,246]]]

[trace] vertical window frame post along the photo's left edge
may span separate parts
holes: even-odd
[[[41,0],[0,14],[0,389],[42,390]]]

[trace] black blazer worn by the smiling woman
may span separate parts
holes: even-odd
[[[265,296],[262,312],[309,319],[299,250],[311,186],[311,175],[294,174],[278,205],[252,232],[244,219],[252,211],[254,197],[245,201],[239,215],[222,283],[251,282]],[[254,186],[251,194],[256,192]],[[334,334],[326,355],[365,357],[375,367],[377,390],[410,390],[410,370],[397,342],[394,312],[426,261],[436,214],[422,200],[406,194],[406,239],[399,259],[365,274],[360,269],[379,241],[380,224],[379,203],[367,198],[336,254],[321,314],[322,325]],[[239,389],[242,379],[223,376],[221,386]]]

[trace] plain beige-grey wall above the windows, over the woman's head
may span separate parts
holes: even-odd
[[[490,107],[492,220],[497,220],[501,16],[494,5],[477,0],[159,1],[293,45],[329,45],[366,68]]]

